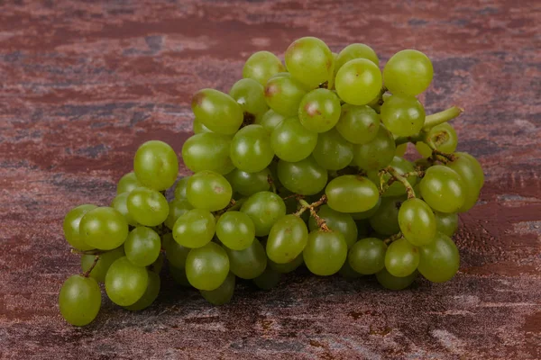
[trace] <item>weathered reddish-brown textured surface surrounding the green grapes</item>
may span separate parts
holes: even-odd
[[[443,3],[0,0],[0,357],[540,359],[541,8]],[[487,180],[454,237],[454,280],[393,293],[292,275],[220,308],[165,280],[146,311],[105,301],[87,328],[61,320],[60,285],[78,272],[65,212],[110,202],[142,141],[180,150],[197,89],[226,91],[252,52],[306,35],[383,60],[425,51],[427,112],[466,109],[459,148]]]

